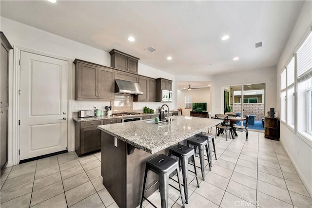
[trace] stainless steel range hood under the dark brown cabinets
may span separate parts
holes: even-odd
[[[129,82],[115,79],[115,93],[143,95],[143,91],[137,82]]]

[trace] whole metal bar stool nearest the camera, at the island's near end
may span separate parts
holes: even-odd
[[[182,193],[182,188],[181,188],[181,176],[179,172],[179,164],[178,161],[174,158],[171,158],[169,156],[166,156],[164,154],[158,154],[156,157],[153,157],[152,159],[148,160],[146,162],[146,167],[145,167],[145,175],[144,175],[144,182],[143,182],[143,191],[142,191],[142,198],[141,198],[141,204],[140,208],[142,208],[143,204],[143,198],[146,199],[149,203],[151,203],[147,198],[144,197],[144,192],[148,189],[145,190],[145,185],[146,185],[146,177],[147,177],[147,172],[148,170],[152,170],[155,172],[158,177],[159,177],[159,191],[160,191],[160,200],[161,200],[161,208],[168,208],[168,190],[169,190],[169,175],[176,171],[177,174],[177,180],[179,184],[179,191],[181,194],[181,199],[182,199],[182,205],[184,208],[184,195]],[[153,203],[151,203],[153,205]],[[153,205],[155,207],[155,205]]]

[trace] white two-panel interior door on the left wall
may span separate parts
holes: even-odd
[[[20,160],[67,150],[68,62],[20,53]]]

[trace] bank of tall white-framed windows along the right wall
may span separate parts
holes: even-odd
[[[280,92],[281,121],[312,142],[311,30],[282,71]]]

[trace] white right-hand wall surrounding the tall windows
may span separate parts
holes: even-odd
[[[277,63],[276,107],[278,111],[280,111],[280,73],[292,56],[295,47],[302,40],[302,37],[310,27],[312,23],[311,17],[312,1],[305,1],[292,29],[292,33]],[[308,191],[310,191],[310,195],[312,195],[312,144],[305,142],[282,122],[280,125],[280,141],[290,156],[304,185]],[[297,148],[299,148],[299,154]]]

